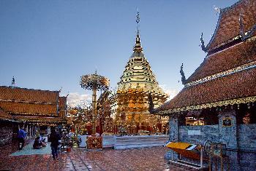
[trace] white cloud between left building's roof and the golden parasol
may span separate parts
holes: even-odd
[[[67,97],[67,104],[71,107],[75,107],[87,100],[91,100],[91,95],[80,95],[78,92],[71,92]]]

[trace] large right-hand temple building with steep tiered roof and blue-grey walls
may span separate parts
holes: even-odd
[[[256,1],[241,0],[219,9],[211,40],[201,47],[203,63],[175,98],[153,112],[170,116],[170,140],[222,143],[231,170],[256,168]],[[185,126],[186,117],[203,126]],[[222,156],[222,155],[220,155]]]

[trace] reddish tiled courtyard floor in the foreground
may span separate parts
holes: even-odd
[[[167,164],[163,159],[167,148],[163,147],[103,151],[72,148],[53,160],[50,154],[27,155],[29,146],[24,148],[26,152],[15,152],[15,145],[0,147],[0,170],[186,170]]]

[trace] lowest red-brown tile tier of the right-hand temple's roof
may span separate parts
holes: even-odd
[[[255,96],[255,76],[256,68],[251,68],[184,88],[156,111]]]

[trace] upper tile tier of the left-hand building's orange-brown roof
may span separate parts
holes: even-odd
[[[57,103],[59,92],[0,86],[0,100]]]

